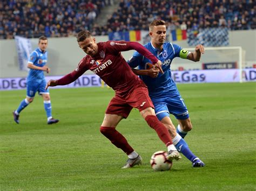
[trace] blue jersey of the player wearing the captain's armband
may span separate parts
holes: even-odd
[[[151,98],[163,97],[166,94],[179,94],[175,82],[172,80],[171,62],[175,57],[180,57],[181,47],[172,43],[164,43],[162,51],[154,48],[153,45],[147,43],[144,45],[158,60],[162,62],[164,74],[159,73],[156,78],[147,75],[142,75],[140,78],[144,81],[149,89]],[[147,69],[146,63],[151,62],[138,52],[134,52],[132,58],[127,61],[130,67],[139,69]]]

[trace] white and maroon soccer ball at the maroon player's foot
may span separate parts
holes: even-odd
[[[168,160],[167,156],[165,151],[155,152],[150,159],[151,167],[155,171],[168,171],[172,167],[172,161]]]

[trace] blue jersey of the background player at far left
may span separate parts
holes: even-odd
[[[47,52],[42,52],[37,48],[30,54],[28,63],[32,63],[35,66],[43,67],[47,62]],[[27,77],[27,82],[42,82],[44,80],[44,71],[38,69],[30,69]]]

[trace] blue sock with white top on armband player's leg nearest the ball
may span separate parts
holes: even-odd
[[[181,138],[181,136],[178,133],[176,137],[172,139],[172,142],[173,145],[177,148],[177,150],[191,162],[193,162],[193,160],[197,158],[197,156],[190,151],[190,148],[188,147],[187,143],[183,138]]]

